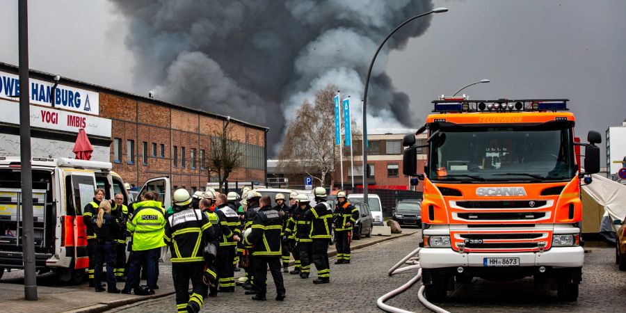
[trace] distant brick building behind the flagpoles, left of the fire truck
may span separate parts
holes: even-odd
[[[417,186],[410,186],[409,177],[402,174],[402,138],[406,134],[415,133],[415,129],[374,129],[367,134],[369,150],[367,152],[367,163],[374,168],[371,177],[367,179],[369,188],[394,189],[394,190],[414,190],[423,191],[424,185],[420,181]],[[426,142],[426,134],[417,136],[417,143]],[[344,186],[352,185],[352,175],[354,175],[355,188],[362,188],[362,138],[353,138],[354,174],[350,165],[350,148],[344,147],[343,173],[339,164],[335,166],[334,184],[335,188],[341,186],[341,175],[344,176]],[[339,149],[337,148],[337,152]],[[418,151],[417,170],[424,171],[426,165],[426,150]],[[411,188],[412,187],[412,188]]]

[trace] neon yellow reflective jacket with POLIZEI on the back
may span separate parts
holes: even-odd
[[[163,230],[166,225],[165,210],[161,202],[147,200],[133,204],[133,218],[126,223],[126,228],[133,233],[133,251],[161,248]]]

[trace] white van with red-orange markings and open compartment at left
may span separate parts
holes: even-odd
[[[21,160],[0,157],[0,277],[22,262]],[[105,199],[129,196],[111,163],[77,159],[32,158],[35,268],[54,271],[59,280],[81,282],[88,268],[83,207],[96,188]]]

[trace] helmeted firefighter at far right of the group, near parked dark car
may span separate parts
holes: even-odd
[[[337,248],[337,262],[335,264],[350,264],[350,243],[352,241],[352,229],[357,218],[359,209],[355,208],[346,198],[345,191],[337,193],[337,207],[332,214],[333,226],[335,227],[335,247]]]

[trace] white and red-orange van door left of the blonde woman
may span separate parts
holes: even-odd
[[[95,175],[93,172],[65,172],[65,203],[64,216],[65,253],[66,257],[74,257],[74,268],[88,268],[89,254],[87,251],[87,229],[83,221],[83,208],[93,201],[95,192]]]

